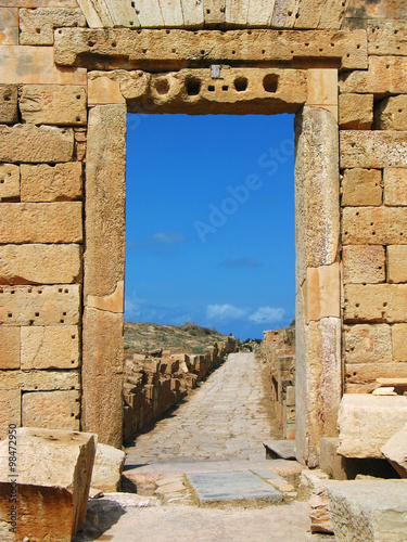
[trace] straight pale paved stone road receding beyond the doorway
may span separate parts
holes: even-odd
[[[128,462],[262,460],[272,437],[263,397],[260,361],[230,354],[171,417],[137,438]]]

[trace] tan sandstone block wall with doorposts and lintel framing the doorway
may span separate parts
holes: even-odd
[[[393,0],[0,2],[2,431],[122,443],[127,111],[296,113],[301,461],[335,436],[344,391],[407,375],[406,16]]]

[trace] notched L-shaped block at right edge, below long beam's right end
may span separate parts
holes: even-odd
[[[407,59],[369,56],[368,70],[341,75],[340,91],[383,95],[407,93]]]

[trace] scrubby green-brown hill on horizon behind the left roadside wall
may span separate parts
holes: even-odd
[[[171,353],[205,353],[208,347],[226,337],[215,328],[201,327],[192,322],[180,326],[125,322],[125,354],[127,358],[131,353],[157,348]]]

